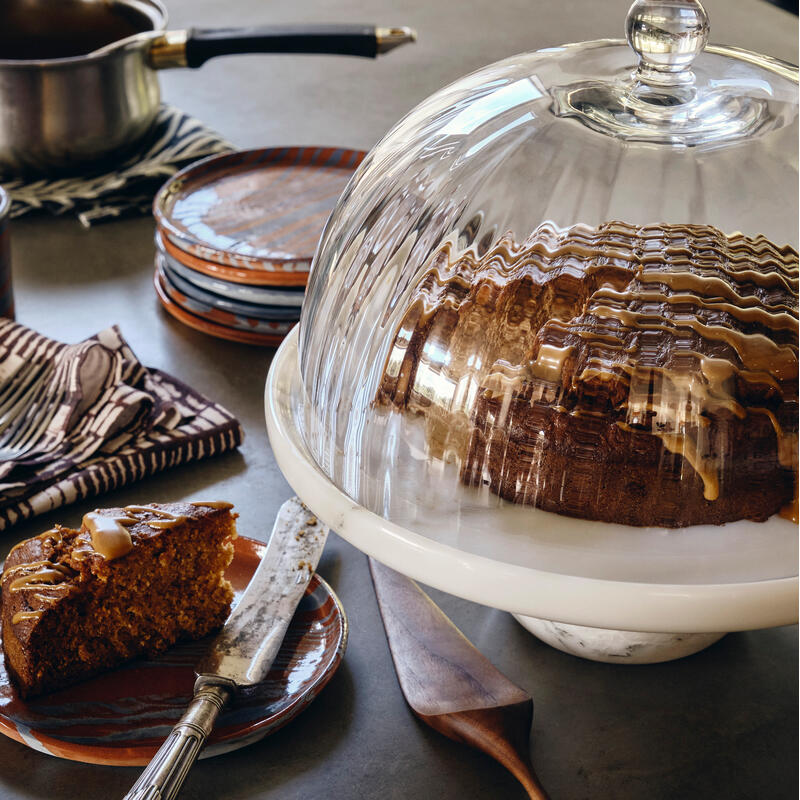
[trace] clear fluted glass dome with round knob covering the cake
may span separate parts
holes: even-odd
[[[791,529],[797,69],[706,46],[699,3],[627,37],[456,81],[340,198],[300,427],[360,506],[476,551],[613,528],[617,561],[642,528]]]

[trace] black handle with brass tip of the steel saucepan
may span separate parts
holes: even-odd
[[[375,58],[414,41],[410,28],[374,25],[286,25],[253,28],[194,28],[186,35],[186,66],[236,53],[318,53]]]

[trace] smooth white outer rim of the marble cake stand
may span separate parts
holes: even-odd
[[[739,583],[659,584],[546,572],[441,544],[390,522],[341,491],[302,443],[288,388],[299,380],[298,328],[273,357],[264,392],[278,467],[314,513],[366,555],[428,586],[514,614],[573,625],[713,633],[794,624],[798,576]]]

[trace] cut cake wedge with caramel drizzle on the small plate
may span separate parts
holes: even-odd
[[[23,697],[198,639],[228,616],[236,537],[222,502],[86,514],[16,545],[2,576],[3,649]]]

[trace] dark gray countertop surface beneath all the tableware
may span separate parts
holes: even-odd
[[[165,100],[237,146],[369,148],[445,83],[506,55],[619,37],[627,2],[560,0],[168,0],[172,27],[366,21],[418,29],[419,43],[370,63],[242,56],[162,75]],[[797,20],[760,0],[708,0],[712,40],[797,60]],[[290,496],[263,422],[272,351],[212,339],[155,299],[153,221],[84,230],[71,218],[12,224],[18,320],[65,341],[120,325],[143,363],[219,400],[241,420],[240,452],[175,469],[99,502],[230,500],[243,535],[264,539]],[[77,523],[97,500],[19,525],[17,540]],[[417,722],[397,686],[366,558],[332,536],[319,567],[348,612],[342,667],[291,725],[198,763],[187,798],[522,798],[489,758]],[[731,634],[673,663],[624,667],[564,655],[508,614],[440,592],[444,611],[534,697],[532,758],[554,800],[706,800],[797,796],[797,628]],[[139,770],[89,766],[0,737],[0,798],[121,797]]]

